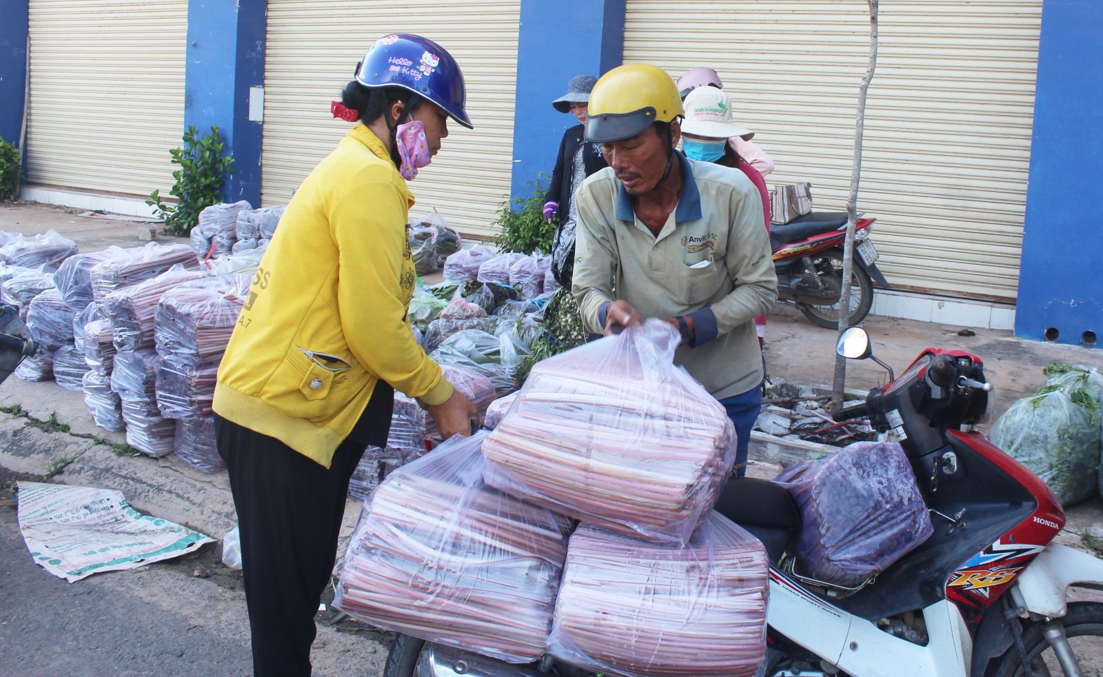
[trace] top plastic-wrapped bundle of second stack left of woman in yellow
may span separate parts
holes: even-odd
[[[164,292],[205,277],[207,273],[202,270],[189,270],[178,265],[156,278],[124,287],[104,297],[104,310],[111,322],[116,350],[151,347],[153,318]]]

